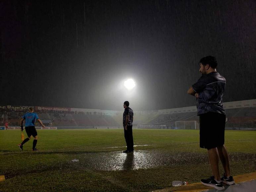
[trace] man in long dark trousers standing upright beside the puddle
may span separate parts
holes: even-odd
[[[133,111],[129,108],[129,101],[124,102],[125,112],[123,114],[123,125],[125,131],[125,141],[127,150],[124,153],[133,152],[133,137],[132,137],[132,122],[133,122]]]

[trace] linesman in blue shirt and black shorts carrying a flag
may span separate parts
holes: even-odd
[[[42,123],[42,121],[38,118],[37,114],[34,113],[34,109],[32,107],[29,108],[29,113],[26,113],[24,116],[22,116],[22,120],[21,120],[21,130],[23,131],[23,121],[25,120],[25,130],[27,133],[27,138],[24,139],[24,141],[19,144],[19,148],[21,150],[23,150],[23,145],[29,141],[31,135],[34,137],[34,141],[33,141],[33,148],[32,151],[37,151],[37,149],[35,148],[36,143],[37,143],[37,131],[35,129],[35,120],[39,121],[39,123],[43,126],[43,128],[45,127],[44,124]]]

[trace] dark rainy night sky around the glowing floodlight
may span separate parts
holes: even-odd
[[[225,102],[255,99],[255,10],[255,0],[1,1],[0,103],[193,106],[186,91],[207,55],[227,79]]]

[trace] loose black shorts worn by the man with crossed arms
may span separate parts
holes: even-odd
[[[224,145],[226,115],[208,112],[199,116],[200,147],[212,149]]]

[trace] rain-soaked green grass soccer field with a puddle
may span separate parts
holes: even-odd
[[[212,175],[199,130],[133,129],[133,138],[124,154],[122,129],[38,130],[39,151],[30,140],[21,152],[21,131],[2,130],[0,191],[152,191]],[[232,175],[256,171],[256,131],[226,131],[225,145]]]

